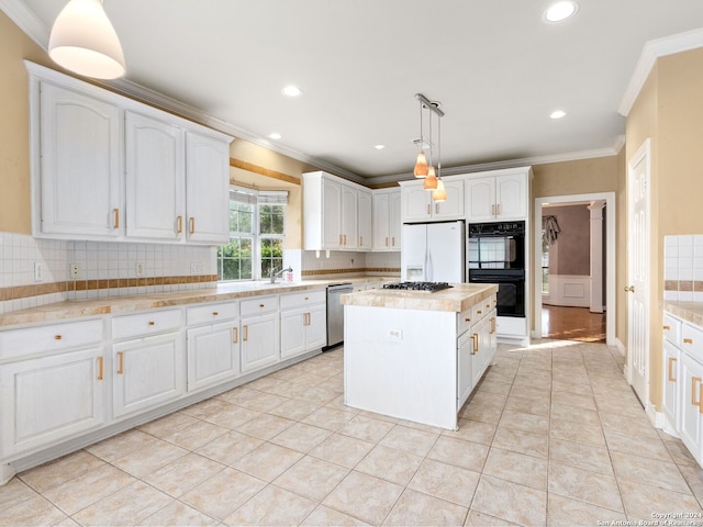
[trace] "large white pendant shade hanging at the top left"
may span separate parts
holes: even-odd
[[[52,27],[48,55],[59,66],[96,79],[115,79],[126,69],[120,40],[101,0],[68,2]]]

